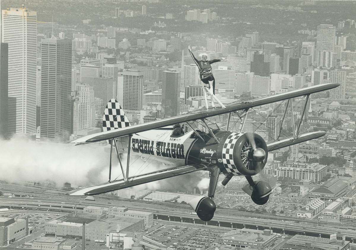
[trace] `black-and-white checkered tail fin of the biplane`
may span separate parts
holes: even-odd
[[[106,104],[103,115],[103,131],[119,129],[121,127],[130,126],[129,119],[127,119],[124,110],[121,108],[119,102],[111,99]]]

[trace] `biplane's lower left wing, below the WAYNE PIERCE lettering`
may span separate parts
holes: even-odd
[[[83,196],[83,195],[95,195],[95,194],[102,194],[107,193],[123,188],[133,187],[140,184],[158,181],[161,179],[166,179],[174,176],[184,175],[186,173],[192,173],[195,171],[205,170],[206,166],[203,164],[199,165],[188,165],[188,166],[178,166],[167,168],[164,170],[158,170],[151,173],[146,173],[143,175],[137,175],[133,177],[129,177],[129,181],[125,182],[124,179],[112,181],[112,182],[105,182],[102,184],[97,184],[90,187],[83,187],[73,191],[70,191],[69,195],[75,196]]]

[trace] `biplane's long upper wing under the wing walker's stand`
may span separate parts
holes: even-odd
[[[269,97],[253,99],[245,103],[240,103],[240,102],[230,103],[226,105],[226,109],[216,108],[211,110],[192,112],[192,113],[178,115],[162,120],[151,121],[149,123],[138,124],[130,127],[121,128],[121,129],[115,129],[115,130],[100,132],[88,136],[83,136],[72,142],[78,145],[78,144],[85,144],[85,143],[96,142],[96,141],[109,140],[116,137],[122,137],[122,136],[136,134],[147,130],[157,129],[159,127],[173,125],[176,123],[194,121],[194,120],[208,118],[215,115],[234,112],[237,110],[248,109],[256,106],[261,106],[264,104],[274,103],[276,101],[282,101],[290,98],[300,97],[303,95],[313,94],[316,92],[321,92],[324,90],[336,88],[339,85],[340,84],[337,83],[320,84],[312,87],[293,90],[282,94],[272,95]]]

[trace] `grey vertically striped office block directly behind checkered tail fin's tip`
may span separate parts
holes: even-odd
[[[94,97],[100,98],[102,100],[102,105],[104,107],[110,99],[116,97],[114,80],[112,78],[106,78],[106,77],[94,78],[93,86],[94,86]]]

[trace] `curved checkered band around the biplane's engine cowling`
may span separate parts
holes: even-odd
[[[231,133],[225,140],[223,146],[222,160],[227,173],[231,175],[238,175],[239,173],[234,163],[233,151],[234,151],[235,143],[237,142],[237,139],[239,139],[241,135],[243,135],[243,133],[235,133],[235,132]]]

